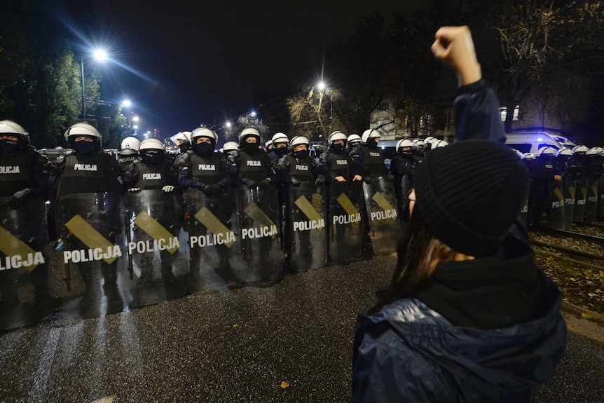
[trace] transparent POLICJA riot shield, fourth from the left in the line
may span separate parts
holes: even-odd
[[[189,292],[209,294],[240,287],[235,189],[229,186],[216,196],[188,189],[184,198],[191,268]]]

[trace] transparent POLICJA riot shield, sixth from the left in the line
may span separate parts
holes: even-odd
[[[289,186],[289,264],[294,272],[313,270],[327,264],[324,186],[302,182]]]

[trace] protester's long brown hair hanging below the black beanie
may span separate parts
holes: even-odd
[[[408,211],[403,214],[408,214]],[[455,259],[457,252],[434,236],[425,225],[420,210],[414,208],[406,224],[406,231],[397,245],[397,254],[397,266],[390,287],[376,306],[369,310],[369,315],[378,313],[383,306],[412,296],[425,287],[439,261]]]

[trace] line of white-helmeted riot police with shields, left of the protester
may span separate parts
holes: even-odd
[[[376,130],[360,145],[335,132],[318,162],[306,137],[277,133],[266,153],[247,128],[216,152],[216,133],[198,128],[172,138],[181,153],[169,161],[153,138],[125,139],[116,159],[94,126],[76,123],[64,133],[71,150],[48,163],[20,125],[0,128],[0,329],[39,322],[59,301],[65,317],[99,317],[266,287],[357,258],[368,231],[376,254],[394,252],[399,213]],[[360,152],[351,157],[345,142]],[[51,257],[64,266],[60,298]]]

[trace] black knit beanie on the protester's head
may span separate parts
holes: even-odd
[[[427,228],[453,250],[495,252],[526,203],[528,171],[504,144],[466,140],[427,153],[413,179]]]

